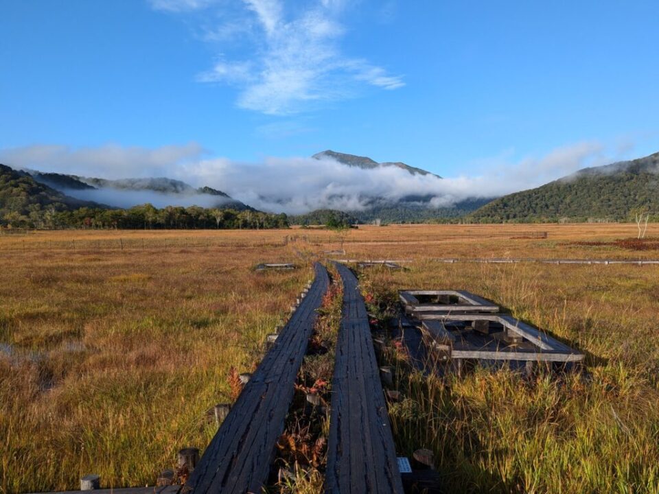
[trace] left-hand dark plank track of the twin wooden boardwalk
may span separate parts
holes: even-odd
[[[297,311],[245,385],[181,493],[260,493],[284,431],[294,382],[329,285],[316,263],[316,279]]]

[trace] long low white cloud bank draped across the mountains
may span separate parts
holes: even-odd
[[[537,187],[587,166],[610,163],[599,143],[585,142],[553,150],[540,158],[494,158],[472,164],[474,176],[450,178],[412,175],[397,167],[360,169],[325,158],[266,158],[240,163],[228,158],[203,158],[196,143],[163,148],[71,149],[65,146],[29,146],[0,150],[0,163],[100,178],[167,176],[194,187],[207,185],[257,209],[305,213],[332,208],[363,210],[373,198],[397,202],[408,196],[430,198],[429,207],[450,207],[470,198],[494,198]],[[87,196],[89,194],[89,196]],[[212,206],[222,198],[207,194],[165,194],[151,191],[71,191],[78,198],[129,207],[151,202]]]

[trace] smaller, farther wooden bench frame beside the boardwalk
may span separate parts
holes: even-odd
[[[498,312],[499,306],[465,290],[400,290],[407,314],[413,312]]]

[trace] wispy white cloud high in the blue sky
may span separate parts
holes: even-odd
[[[207,6],[210,0],[158,1]],[[198,75],[200,82],[237,86],[240,108],[291,115],[323,102],[356,97],[364,86],[393,90],[405,85],[401,75],[342,53],[343,1],[312,0],[307,6],[292,3],[288,9],[283,0],[242,0],[242,5],[236,11],[235,4],[229,10],[218,3],[222,19],[231,18],[206,29],[203,38],[222,43],[223,49],[248,51],[248,56],[222,55]]]

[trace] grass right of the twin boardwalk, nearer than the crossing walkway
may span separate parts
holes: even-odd
[[[659,268],[421,261],[362,272],[384,305],[412,287],[490,298],[586,353],[586,371],[426,378],[392,347],[399,454],[435,451],[447,491],[659,492]]]

